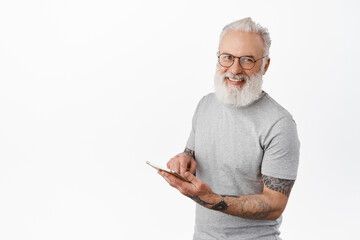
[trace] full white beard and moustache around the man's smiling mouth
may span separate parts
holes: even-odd
[[[246,82],[242,87],[228,86],[225,80],[226,77],[244,79]],[[245,107],[259,99],[262,93],[263,79],[261,71],[248,77],[244,74],[222,74],[217,67],[214,80],[217,99],[233,107]]]

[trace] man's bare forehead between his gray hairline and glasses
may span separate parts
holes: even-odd
[[[233,55],[260,57],[264,51],[264,40],[258,33],[230,30],[220,40],[219,50]]]

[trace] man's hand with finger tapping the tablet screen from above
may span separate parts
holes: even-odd
[[[196,161],[194,159],[194,151],[185,148],[183,153],[176,155],[171,158],[167,163],[167,168],[180,173],[184,177],[185,172],[190,172],[195,174],[196,171]]]

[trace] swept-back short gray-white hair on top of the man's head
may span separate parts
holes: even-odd
[[[232,22],[232,23],[226,25],[220,34],[220,41],[221,41],[222,37],[230,30],[240,30],[240,31],[244,31],[244,32],[260,34],[260,36],[264,40],[264,55],[269,56],[271,39],[270,39],[270,34],[269,34],[269,31],[267,30],[267,28],[262,27],[260,24],[254,22],[250,17],[243,18],[243,19],[240,19],[238,21],[235,21],[235,22]],[[267,59],[267,58],[265,58],[265,59]]]

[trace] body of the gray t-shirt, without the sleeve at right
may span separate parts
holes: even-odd
[[[292,120],[266,93],[244,108],[226,106],[214,94],[205,96],[194,115],[187,143],[195,151],[197,177],[221,195],[262,193],[262,161],[271,141],[269,132],[283,118]],[[261,235],[278,235],[280,222],[281,218],[244,219],[197,205],[194,238],[203,239],[201,235],[211,233],[220,234],[218,238],[231,239],[242,234],[260,239]],[[211,239],[210,235],[204,239]]]

